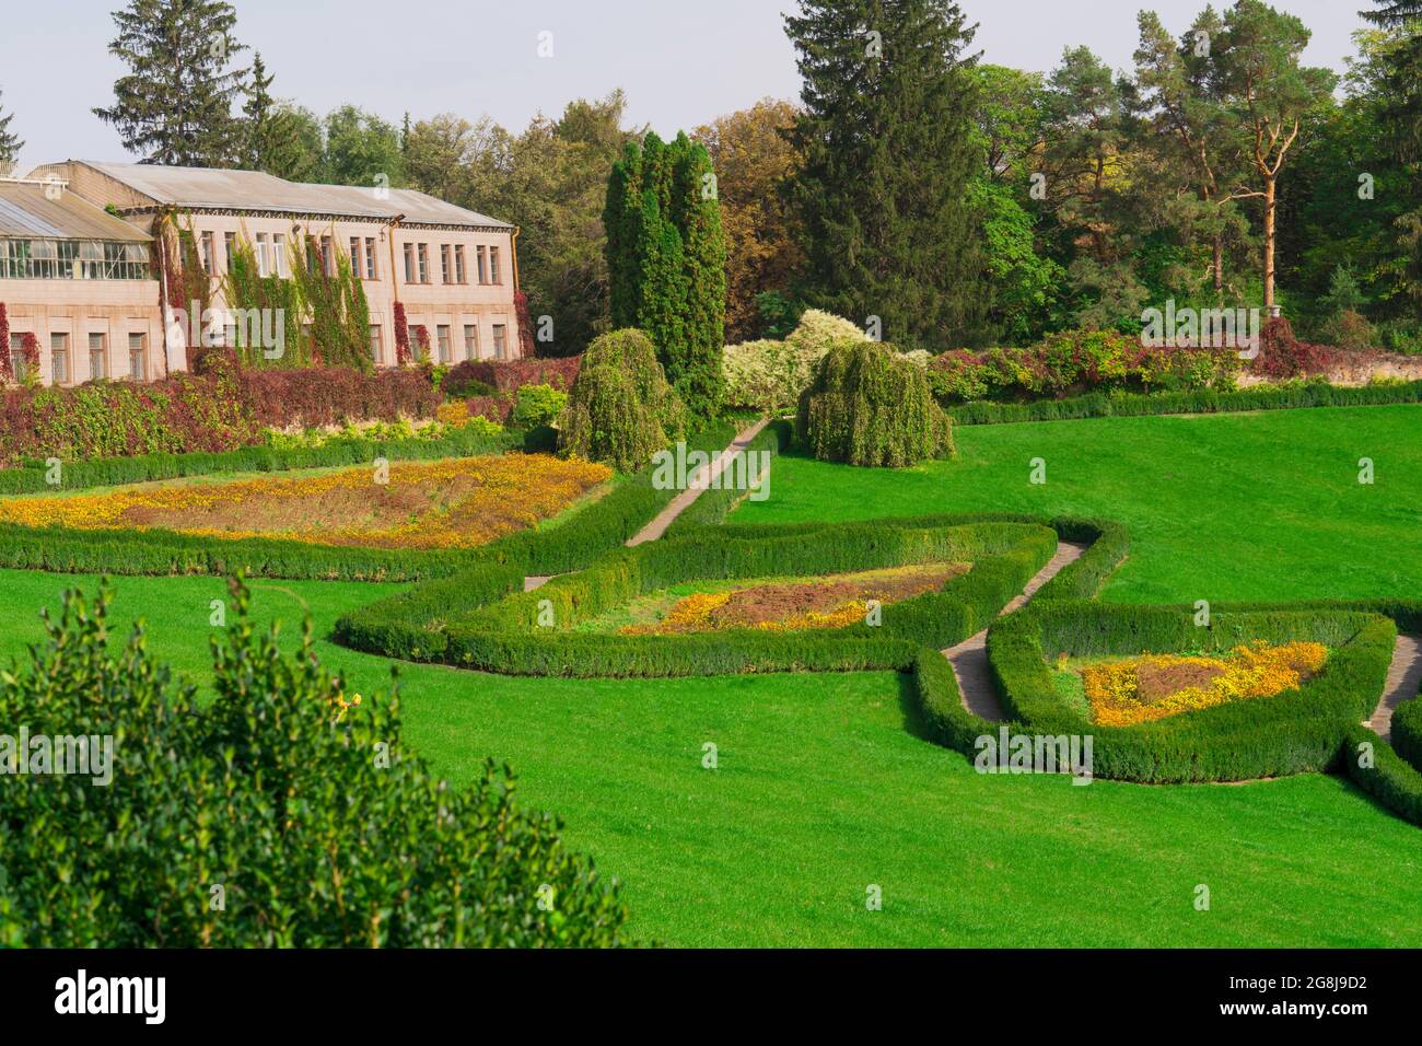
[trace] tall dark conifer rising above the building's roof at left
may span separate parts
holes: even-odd
[[[225,167],[242,152],[243,122],[232,112],[245,73],[232,57],[237,13],[225,0],[129,0],[114,11],[109,54],[129,73],[114,104],[94,115],[118,131],[145,164]]]

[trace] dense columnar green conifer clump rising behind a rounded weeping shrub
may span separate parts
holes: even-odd
[[[711,158],[648,134],[613,165],[603,211],[614,327],[640,327],[687,407],[721,404],[725,238]]]

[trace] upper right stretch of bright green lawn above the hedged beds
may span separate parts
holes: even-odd
[[[1112,602],[1418,596],[1419,431],[1419,406],[958,426],[958,460],[910,470],[782,455],[769,500],[731,521],[1098,515],[1130,528]]]

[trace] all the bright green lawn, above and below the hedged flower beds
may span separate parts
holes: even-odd
[[[971,427],[902,472],[775,465],[735,519],[1010,509],[1126,522],[1115,601],[1422,591],[1422,407]],[[1048,463],[1045,487],[1028,463]],[[1376,463],[1359,487],[1358,458]],[[0,653],[38,636],[54,575],[0,572]],[[92,579],[82,579],[91,585]],[[181,669],[206,665],[219,579],[115,581]],[[319,635],[394,586],[259,583]],[[353,686],[388,662],[330,643]],[[405,740],[455,780],[492,754],[523,801],[623,879],[634,929],[685,945],[1422,945],[1422,830],[1348,783],[1143,787],[980,776],[916,736],[890,673],[529,680],[401,667]],[[702,746],[718,768],[702,768]],[[866,911],[866,887],[883,909]],[[1210,911],[1194,909],[1199,884]]]

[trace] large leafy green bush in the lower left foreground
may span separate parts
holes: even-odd
[[[7,778],[0,944],[626,942],[616,888],[563,848],[557,821],[513,805],[508,771],[451,788],[401,746],[398,697],[348,694],[309,622],[283,655],[240,582],[233,598],[210,704],[141,630],[111,646],[105,592],[92,609],[70,593],[48,643],[0,680],[0,719],[31,736],[111,739],[107,773]]]

